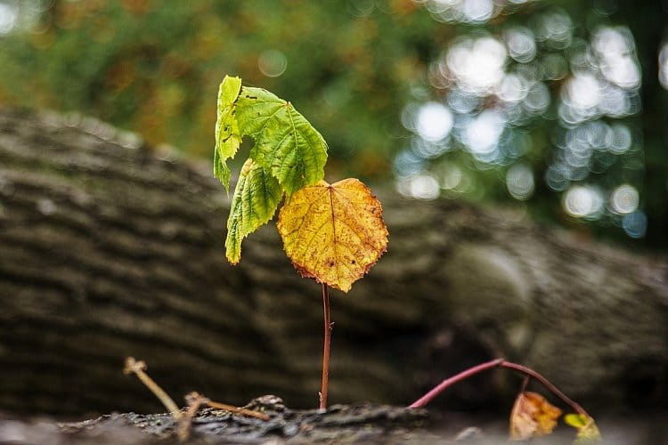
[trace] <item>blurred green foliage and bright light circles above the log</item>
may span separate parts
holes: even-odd
[[[328,176],[668,247],[668,4],[0,0],[0,103],[212,158],[225,74],[292,101]]]

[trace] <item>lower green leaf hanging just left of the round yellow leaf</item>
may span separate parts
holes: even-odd
[[[239,263],[241,241],[272,219],[282,194],[276,179],[265,168],[248,158],[241,167],[227,219],[227,261],[232,264]]]

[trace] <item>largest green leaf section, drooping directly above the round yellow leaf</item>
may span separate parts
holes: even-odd
[[[327,142],[288,101],[261,88],[244,87],[237,101],[240,134],[255,140],[250,158],[295,191],[322,180]]]

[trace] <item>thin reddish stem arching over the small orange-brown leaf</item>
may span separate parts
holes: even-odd
[[[430,401],[434,400],[438,394],[441,392],[444,392],[446,389],[448,389],[452,384],[456,384],[457,382],[460,382],[461,380],[464,380],[470,376],[475,376],[476,374],[486,371],[487,369],[492,369],[492,368],[507,368],[507,369],[512,369],[514,371],[517,371],[525,376],[529,376],[531,378],[534,378],[537,380],[539,383],[541,383],[545,388],[547,388],[550,392],[552,392],[554,395],[556,395],[561,401],[566,403],[566,405],[570,406],[572,409],[574,409],[575,412],[579,414],[583,414],[584,416],[591,417],[589,414],[587,414],[587,411],[582,409],[580,405],[575,403],[574,401],[570,400],[565,393],[561,392],[558,390],[557,386],[554,384],[551,384],[550,381],[538,374],[534,369],[531,368],[526,368],[522,365],[517,365],[517,363],[512,363],[510,361],[506,361],[503,359],[496,359],[496,360],[491,360],[491,361],[486,361],[485,363],[482,363],[480,365],[477,365],[473,368],[468,368],[467,370],[460,372],[460,374],[457,374],[456,376],[452,376],[450,378],[446,378],[443,382],[440,384],[436,385],[434,389],[431,391],[427,392],[425,395],[420,397],[417,401],[414,401],[411,403],[411,406],[409,408],[422,408],[426,406]]]

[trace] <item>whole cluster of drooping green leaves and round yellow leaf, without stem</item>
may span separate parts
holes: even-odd
[[[218,92],[214,174],[230,184],[227,160],[243,136],[253,139],[227,221],[225,251],[236,264],[241,241],[272,219],[285,251],[303,276],[347,292],[387,248],[378,199],[362,182],[322,181],[327,142],[289,103],[261,88],[225,77]]]

